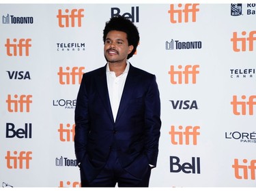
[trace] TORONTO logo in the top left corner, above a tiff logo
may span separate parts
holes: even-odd
[[[33,17],[7,14],[2,16],[2,24],[33,24]]]

